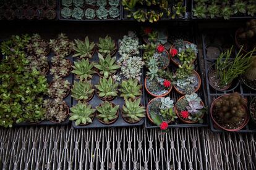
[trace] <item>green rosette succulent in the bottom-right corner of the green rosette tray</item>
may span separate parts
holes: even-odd
[[[124,106],[122,107],[122,118],[127,123],[138,123],[142,118],[145,117],[145,107],[140,105],[140,99],[125,100]]]

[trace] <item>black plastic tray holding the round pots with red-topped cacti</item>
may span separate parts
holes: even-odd
[[[190,28],[190,27],[187,27],[187,28]],[[184,29],[184,28],[183,28]],[[190,41],[190,42],[194,42],[194,38],[191,36],[193,31],[188,31],[188,30],[171,30],[169,31],[169,33],[171,33],[171,35],[169,34],[169,38],[168,38],[168,41],[173,41],[173,39],[176,39],[176,38],[183,38],[183,39],[186,39],[187,41]],[[196,43],[195,43],[196,44]],[[201,68],[200,68],[200,60],[198,60],[198,56],[197,56],[197,60],[195,60],[195,70],[197,71],[197,73],[201,76],[201,79],[202,79],[202,85],[199,89],[199,91],[197,91],[196,93],[201,97],[203,103],[205,104],[205,106],[207,107],[207,100],[206,100],[206,97],[205,97],[205,84],[203,82],[204,79],[203,79],[203,76],[201,72]],[[172,71],[173,73],[175,73],[177,67],[173,64],[173,63],[170,63],[169,65],[169,69],[170,71]],[[148,104],[148,102],[153,99],[154,97],[152,97],[150,94],[147,94],[147,92],[145,91],[145,102],[146,104]],[[176,103],[176,101],[182,96],[182,95],[179,95],[175,90],[174,88],[171,90],[171,93],[168,94],[167,96],[169,96],[171,99],[174,100],[174,104]],[[166,96],[166,97],[167,97]],[[207,127],[209,125],[209,117],[208,117],[208,114],[205,113],[205,115],[203,116],[203,123],[200,124],[200,123],[194,123],[194,124],[186,124],[186,123],[183,123],[181,120],[179,120],[179,118],[177,118],[174,123],[172,124],[169,124],[168,127]],[[156,124],[153,124],[151,123],[151,121],[146,118],[145,119],[145,127],[146,128],[158,128],[158,126],[156,126]]]

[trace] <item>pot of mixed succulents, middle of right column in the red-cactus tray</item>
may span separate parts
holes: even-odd
[[[181,95],[192,94],[200,89],[202,80],[194,65],[179,65],[173,76],[174,89]]]

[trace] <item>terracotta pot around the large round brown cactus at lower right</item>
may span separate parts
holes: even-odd
[[[223,96],[218,97],[217,99],[213,100],[213,102],[211,103],[210,116],[211,116],[211,119],[213,120],[213,123],[214,123],[217,127],[219,127],[220,129],[223,129],[223,130],[225,130],[225,131],[229,131],[229,132],[240,131],[240,130],[241,130],[242,128],[244,128],[244,127],[247,125],[247,123],[249,122],[249,114],[248,114],[248,108],[247,108],[247,106],[244,105],[245,110],[247,110],[247,115],[246,115],[246,118],[245,118],[245,120],[244,120],[244,123],[243,123],[240,127],[238,127],[237,129],[226,129],[226,128],[222,127],[220,124],[218,124],[217,121],[215,121],[215,119],[213,118],[213,107],[215,106],[215,103],[216,103],[219,99],[221,99],[221,97],[223,97]]]

